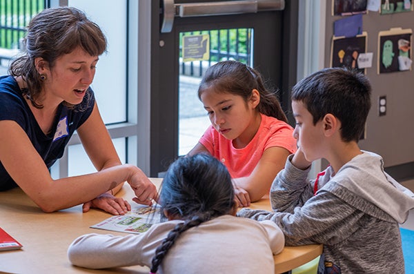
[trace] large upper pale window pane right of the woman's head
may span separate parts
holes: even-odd
[[[114,4],[112,0],[68,1],[68,6],[86,12],[101,27],[108,40],[108,53],[99,57],[95,79],[91,85],[105,124],[126,121],[126,2],[118,0]]]

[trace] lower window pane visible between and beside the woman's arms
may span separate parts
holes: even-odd
[[[122,163],[126,162],[126,139],[118,138],[112,139],[115,149],[117,150],[119,159]],[[88,173],[95,173],[97,169],[93,166],[88,155],[81,144],[68,146],[68,175],[77,176]]]

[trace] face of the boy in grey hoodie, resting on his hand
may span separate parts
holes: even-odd
[[[322,158],[324,124],[318,121],[313,124],[313,116],[302,101],[292,101],[293,116],[296,120],[293,137],[308,162]]]

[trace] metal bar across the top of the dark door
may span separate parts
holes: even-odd
[[[284,10],[284,0],[239,0],[202,3],[174,3],[164,0],[161,32],[171,32],[174,17],[200,17],[256,13],[268,10]]]

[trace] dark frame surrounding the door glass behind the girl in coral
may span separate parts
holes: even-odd
[[[150,19],[150,130],[149,130],[149,162],[150,162],[150,177],[159,177],[169,164],[177,159],[178,155],[178,86],[179,79],[178,66],[174,66],[170,75],[161,75],[161,66],[166,64],[175,64],[176,57],[178,56],[178,48],[169,47],[166,41],[172,41],[177,44],[178,35],[175,31],[188,30],[188,24],[193,20],[186,19],[181,20],[179,17],[175,18],[175,28],[172,32],[160,33],[161,26],[161,14],[162,0],[151,1],[151,19]],[[277,49],[270,48],[270,43],[262,43],[262,45],[255,46],[253,48],[255,68],[259,68],[260,60],[266,59],[279,59],[280,66],[277,70],[280,70],[279,75],[276,75],[275,71],[261,71],[264,78],[272,81],[275,87],[279,88],[279,100],[281,101],[282,108],[284,108],[290,124],[293,124],[293,117],[291,116],[290,106],[290,88],[297,81],[297,35],[298,35],[298,21],[299,21],[299,0],[285,1],[285,9],[282,15],[277,19],[277,23],[282,23],[280,28],[280,37],[282,37],[277,45]],[[268,12],[266,12],[268,13]],[[226,21],[228,17],[243,17],[248,21],[248,18],[252,14],[238,14],[227,16],[215,16],[214,23],[210,23],[212,29],[226,28]],[[206,23],[207,17],[198,17],[197,21]],[[194,19],[195,21],[195,19]],[[187,27],[186,27],[187,24]],[[201,25],[200,25],[201,26]],[[191,28],[194,28],[193,24]],[[249,28],[245,23],[232,23],[231,28]],[[266,28],[267,26],[261,26]],[[257,28],[257,26],[256,26]],[[200,27],[200,29],[202,29]],[[255,30],[254,39],[263,39],[262,41],[268,41],[264,37],[260,37],[260,33]],[[269,39],[269,38],[268,38]],[[277,39],[277,37],[270,37],[270,39]],[[171,42],[168,42],[171,43]],[[277,55],[277,50],[280,50],[280,54]],[[164,88],[162,83],[172,83],[170,88]],[[141,91],[139,90],[139,93]],[[139,106],[148,104],[148,101],[142,102]],[[148,105],[147,105],[148,106]],[[143,106],[145,107],[145,106]],[[143,129],[144,130],[144,129]],[[146,144],[148,146],[148,143]],[[148,159],[148,157],[146,157]]]

